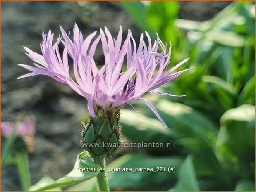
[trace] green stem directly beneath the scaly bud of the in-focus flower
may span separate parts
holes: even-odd
[[[106,167],[105,157],[95,156],[95,157],[93,157],[93,159],[94,159],[94,163],[100,165],[101,168]],[[109,191],[108,179],[107,179],[105,171],[100,171],[100,173],[96,177],[96,181],[98,183],[98,190],[99,191]]]

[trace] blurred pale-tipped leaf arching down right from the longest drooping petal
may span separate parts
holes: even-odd
[[[220,175],[220,180],[228,182],[214,152],[218,130],[212,122],[191,107],[179,103],[161,99],[155,106],[167,126],[179,135],[173,142],[175,147],[182,146],[187,153],[194,154],[198,174]]]

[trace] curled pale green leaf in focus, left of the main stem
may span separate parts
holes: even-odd
[[[93,171],[87,170],[88,168],[93,168]],[[84,169],[84,171],[82,170]],[[77,161],[74,165],[73,170],[67,174],[65,177],[60,178],[56,182],[46,185],[43,187],[34,187],[32,186],[29,190],[33,191],[45,191],[54,189],[57,187],[65,187],[69,185],[74,185],[77,183],[81,183],[83,181],[89,180],[96,175],[98,175],[100,165],[95,164],[93,160],[91,159],[91,156],[89,152],[81,152],[79,155],[77,155]]]

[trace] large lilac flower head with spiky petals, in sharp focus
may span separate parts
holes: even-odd
[[[137,46],[130,30],[128,30],[124,43],[122,43],[123,31],[121,26],[116,40],[106,27],[105,32],[100,29],[100,34],[96,38],[94,38],[96,36],[95,31],[83,39],[82,33],[75,24],[73,40],[69,38],[69,34],[62,27],[60,30],[62,37],[59,36],[54,44],[51,31],[47,35],[42,34],[42,55],[24,47],[27,52],[26,55],[36,63],[34,66],[19,64],[31,71],[31,73],[19,78],[42,74],[68,84],[79,95],[88,100],[88,110],[92,117],[95,117],[96,106],[103,109],[121,109],[131,100],[141,99],[165,126],[155,107],[142,96],[146,92],[171,95],[153,90],[187,71],[188,69],[174,72],[188,59],[171,69],[167,69],[170,63],[171,45],[167,52],[166,45],[158,38],[158,35],[152,44],[149,34],[145,32],[148,45],[144,42],[144,34],[141,34]],[[98,69],[93,56],[99,41],[102,44],[105,63],[99,64],[102,66]],[[64,45],[62,55],[59,51],[60,42]],[[158,47],[161,47],[161,52],[158,52]],[[74,78],[70,75],[71,67],[68,62],[68,55],[72,58]],[[155,71],[156,73],[154,73]]]

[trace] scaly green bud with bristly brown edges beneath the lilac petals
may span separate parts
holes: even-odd
[[[110,156],[118,149],[122,126],[120,109],[97,107],[96,117],[82,123],[81,145],[91,156]]]

